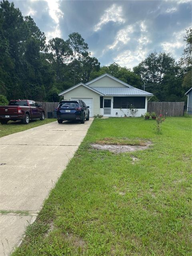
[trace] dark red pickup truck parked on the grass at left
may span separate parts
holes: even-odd
[[[0,123],[22,120],[28,124],[30,119],[45,119],[44,109],[33,100],[10,100],[8,106],[0,106]]]

